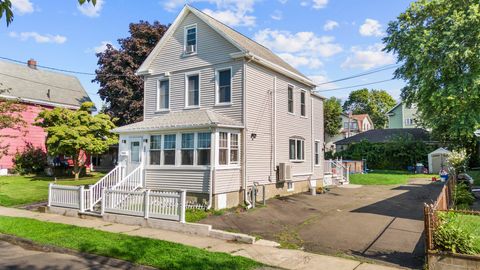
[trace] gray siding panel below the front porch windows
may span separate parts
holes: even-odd
[[[188,192],[208,193],[209,170],[145,169],[147,189],[186,189]]]

